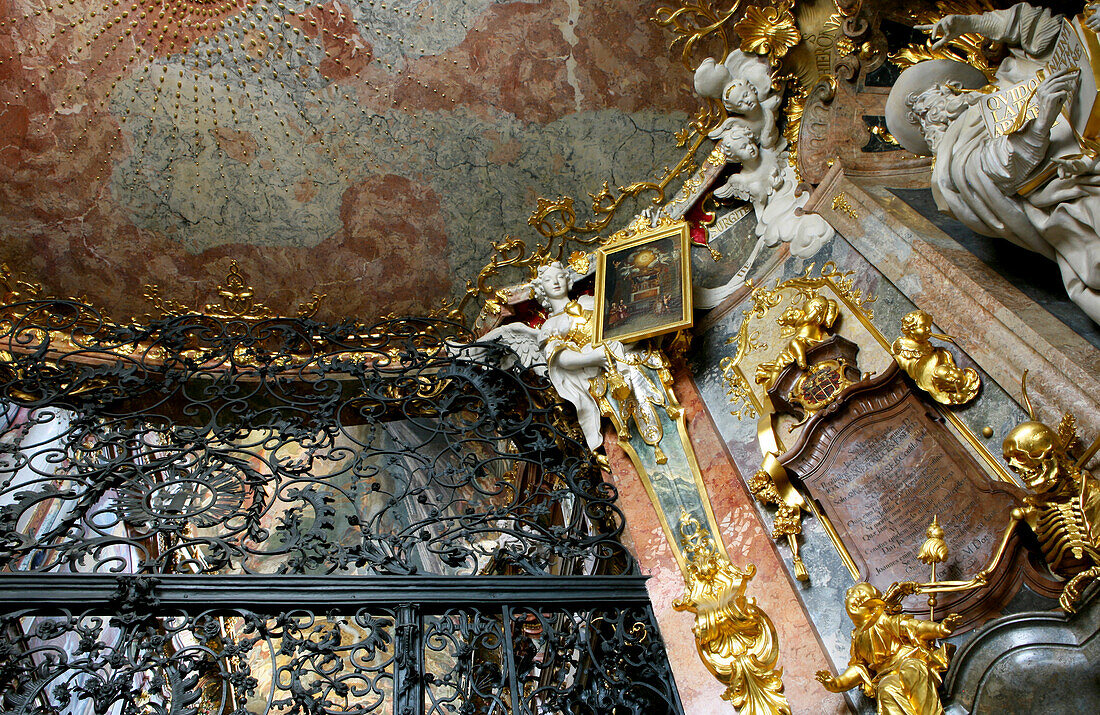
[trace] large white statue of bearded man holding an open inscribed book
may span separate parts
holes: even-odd
[[[1079,70],[1053,57],[1065,23],[1049,10],[1021,3],[924,26],[934,48],[979,33],[1005,43],[1012,54],[998,68],[994,87],[983,91],[970,91],[986,81],[968,66],[914,65],[891,91],[887,121],[902,146],[935,155],[932,191],[941,211],[1056,261],[1070,299],[1100,322],[1100,169],[1065,119],[1076,102],[1091,106],[1094,96],[1080,92]],[[1100,26],[1100,19],[1087,24]],[[1021,92],[1023,119],[990,124],[990,103],[983,117],[982,98],[1027,81],[1033,89]],[[1047,167],[1057,170],[1037,179]]]

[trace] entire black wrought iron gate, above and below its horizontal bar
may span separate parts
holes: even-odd
[[[681,712],[615,490],[506,350],[72,300],[0,330],[0,712]]]

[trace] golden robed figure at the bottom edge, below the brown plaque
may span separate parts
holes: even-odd
[[[817,671],[817,680],[833,693],[859,686],[875,698],[878,715],[942,715],[938,689],[954,647],[933,644],[949,636],[959,617],[936,623],[902,615],[904,593],[883,595],[866,582],[848,588],[844,606],[856,626],[851,660],[838,675]]]

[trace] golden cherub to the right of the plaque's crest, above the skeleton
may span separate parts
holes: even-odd
[[[932,332],[932,316],[914,310],[902,319],[901,337],[890,352],[916,386],[943,405],[963,405],[978,395],[981,380],[972,367],[959,367],[955,358],[932,344],[931,338],[955,342],[950,336]]]

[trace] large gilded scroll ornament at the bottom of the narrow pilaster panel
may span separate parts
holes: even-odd
[[[718,551],[700,522],[682,512],[680,543],[688,558],[686,590],[672,602],[695,614],[695,647],[741,715],[790,715],[783,671],[777,668],[779,639],[771,618],[746,595],[756,566],[738,569]]]

